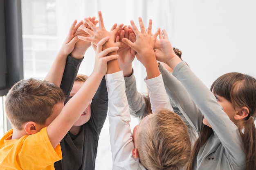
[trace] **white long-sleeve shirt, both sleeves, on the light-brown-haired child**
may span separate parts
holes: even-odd
[[[123,72],[106,74],[109,106],[109,132],[112,152],[113,170],[146,170],[139,159],[132,156],[135,148],[130,128],[130,111],[125,93]],[[147,84],[152,111],[157,108],[173,110],[166,94],[162,75],[145,80]]]

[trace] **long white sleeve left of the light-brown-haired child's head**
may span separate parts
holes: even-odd
[[[123,72],[106,74],[105,78],[108,90],[108,118],[113,169],[137,170],[139,161],[132,157],[134,144]]]

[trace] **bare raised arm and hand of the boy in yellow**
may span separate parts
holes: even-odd
[[[67,102],[61,110],[61,113],[47,127],[47,133],[52,146],[55,148],[63,139],[65,134],[70,130],[81,113],[88,107],[103,76],[107,71],[107,62],[117,59],[117,55],[107,56],[109,52],[116,51],[117,47],[106,48],[102,51],[102,45],[108,41],[108,37],[99,41],[97,46],[97,56],[92,74],[85,81],[81,89]],[[70,114],[72,113],[72,114]]]

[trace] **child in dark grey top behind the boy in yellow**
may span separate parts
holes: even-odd
[[[88,19],[94,25],[98,23],[95,17],[89,17]],[[87,26],[86,23],[84,23],[83,26]],[[77,29],[76,35],[83,37],[90,36],[81,29],[81,26]],[[79,40],[76,42],[75,48],[70,54],[72,57],[69,56],[67,58],[61,82],[61,89],[65,92],[67,100],[76,94],[88,78],[88,76],[76,76],[76,74],[83,60],[82,58],[85,51],[90,46],[90,42]],[[79,58],[79,60],[74,59],[74,57]],[[106,80],[103,77],[96,94],[92,98],[92,102],[61,140],[60,144],[63,159],[54,163],[55,170],[95,169],[99,135],[106,120],[107,113],[108,93]]]

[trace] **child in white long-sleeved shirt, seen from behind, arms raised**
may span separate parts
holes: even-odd
[[[99,22],[101,23],[101,21]],[[141,24],[143,23],[140,19]],[[89,22],[88,25],[90,25]],[[132,25],[135,28],[134,23]],[[144,49],[141,49],[141,51],[138,50],[137,52],[141,52],[142,56],[152,58],[155,57],[152,45],[154,44],[157,33],[151,36],[151,25],[152,22],[150,22],[149,26],[150,31],[145,33],[144,30],[144,34],[140,34],[141,39],[137,39],[136,43],[143,44],[141,41],[150,42],[150,46],[142,46]],[[92,29],[96,30],[96,28]],[[98,32],[97,30],[95,33],[91,33],[91,36],[100,37]],[[139,34],[138,31],[136,33]],[[143,53],[143,51],[148,53]],[[162,77],[157,68],[157,62],[146,60],[144,64],[147,70],[148,80],[146,82],[150,91],[149,95],[152,95],[151,102],[153,113],[155,114],[145,117],[139,126],[135,126],[133,133],[131,133],[129,124],[130,113],[125,96],[124,76],[120,72],[117,62],[112,65],[112,70],[108,70],[108,74],[105,76],[109,98],[110,144],[113,169],[135,170],[148,168],[150,170],[159,170],[161,169],[160,167],[164,169],[163,167],[166,168],[169,166],[179,169],[184,166],[190,155],[191,144],[187,128],[180,117],[169,110],[171,109],[171,105],[164,85],[161,83]],[[158,92],[154,92],[150,87],[159,90]],[[153,91],[152,94],[151,90]],[[158,108],[169,109],[158,110]],[[166,120],[165,118],[168,118],[168,122],[163,121]],[[163,123],[165,126],[158,126],[157,122],[154,121],[159,121],[159,124]],[[172,131],[170,128],[174,128],[177,131]],[[144,134],[149,136],[144,136]],[[159,143],[161,140],[162,142]],[[151,143],[150,141],[155,142]]]

